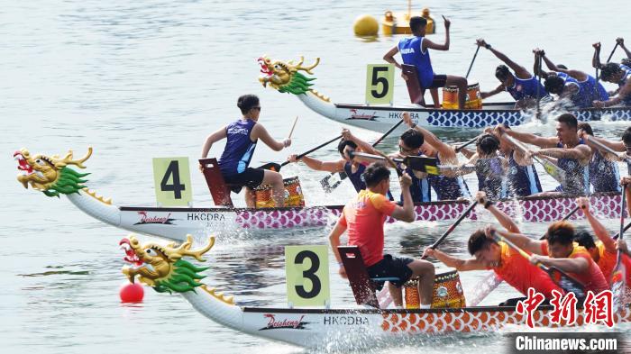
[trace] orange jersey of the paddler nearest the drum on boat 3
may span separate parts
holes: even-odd
[[[546,298],[552,298],[552,291],[561,288],[554,284],[552,279],[540,268],[535,267],[517,250],[508,247],[504,242],[498,242],[501,248],[501,262],[498,267],[491,268],[510,286],[513,286],[523,295],[528,294],[528,288],[533,287]]]

